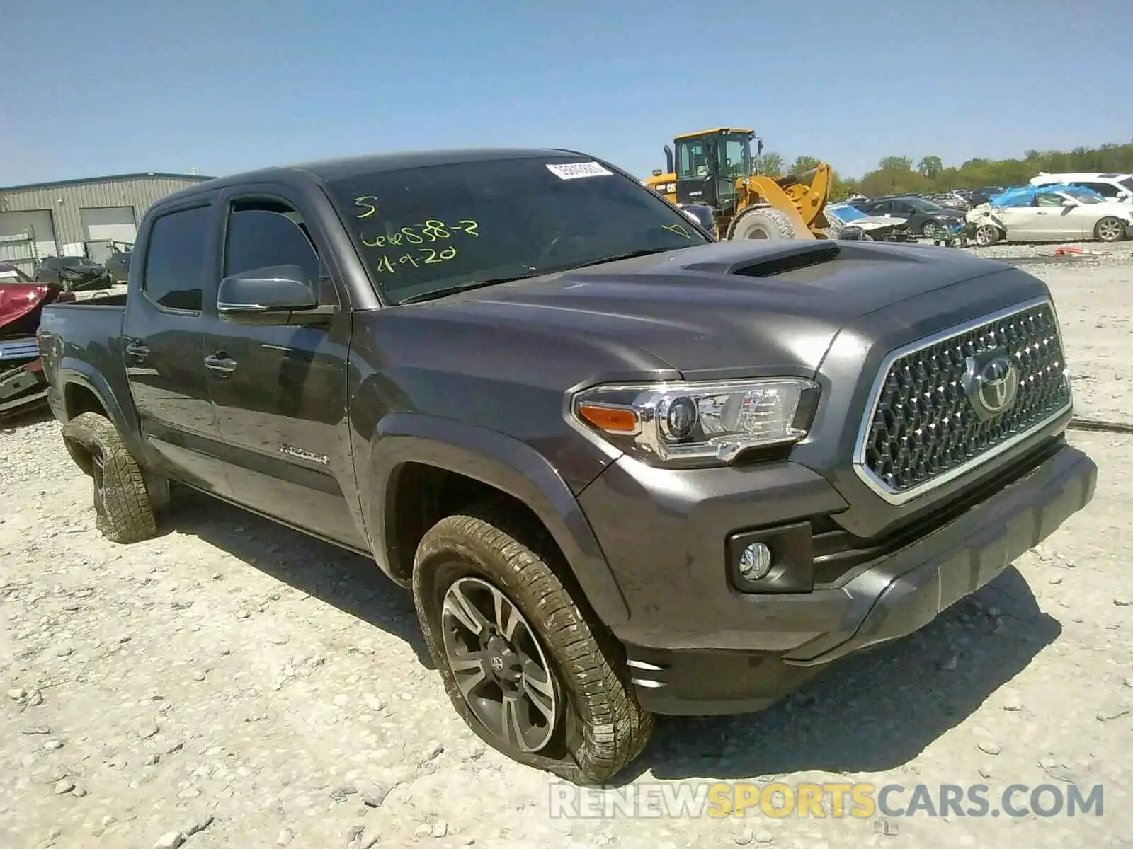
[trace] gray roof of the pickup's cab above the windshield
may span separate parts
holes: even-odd
[[[320,182],[326,182],[381,171],[403,171],[406,169],[428,168],[433,165],[457,165],[466,162],[487,162],[489,160],[535,158],[540,156],[577,157],[586,155],[577,151],[557,148],[472,147],[344,156],[333,160],[299,162],[290,165],[275,165],[218,177],[199,186],[190,186],[168,195],[162,198],[162,203],[177,201],[181,198],[212,191],[233,183],[261,182],[278,180],[280,178],[286,179],[288,177],[300,179],[310,179],[313,177]]]

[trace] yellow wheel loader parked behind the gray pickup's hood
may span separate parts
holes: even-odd
[[[830,195],[830,166],[820,163],[801,174],[753,174],[763,139],[752,130],[716,128],[676,136],[665,145],[666,171],[642,180],[679,206],[713,209],[717,239],[826,239],[824,213]]]

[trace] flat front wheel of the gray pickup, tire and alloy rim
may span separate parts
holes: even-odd
[[[620,646],[583,614],[539,528],[479,506],[437,522],[414,564],[414,601],[453,707],[512,760],[600,783],[645,748]],[[577,592],[577,591],[574,591]]]

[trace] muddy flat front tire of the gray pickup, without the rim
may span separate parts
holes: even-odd
[[[457,580],[469,575],[488,581],[526,617],[556,678],[563,707],[553,736],[537,753],[501,746],[469,709],[449,664],[442,601]],[[442,518],[417,548],[412,591],[449,698],[487,745],[578,784],[607,781],[645,749],[653,714],[633,695],[624,652],[590,612],[540,525],[491,504]]]

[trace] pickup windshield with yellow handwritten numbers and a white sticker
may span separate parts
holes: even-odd
[[[381,171],[327,189],[394,302],[710,241],[636,180],[579,157]]]

